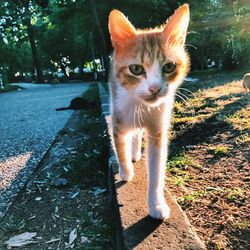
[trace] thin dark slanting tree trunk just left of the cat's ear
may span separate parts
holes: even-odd
[[[90,0],[91,6],[92,6],[92,10],[94,13],[94,17],[95,17],[95,21],[96,21],[96,25],[98,28],[98,33],[100,36],[100,41],[102,43],[102,47],[103,47],[103,59],[104,59],[104,68],[105,68],[105,77],[104,80],[108,81],[108,75],[109,75],[109,58],[108,58],[108,54],[107,54],[107,47],[106,47],[106,42],[105,42],[105,37],[103,34],[103,30],[102,30],[102,26],[100,24],[100,20],[98,17],[98,13],[96,10],[96,4],[94,2],[94,0]]]

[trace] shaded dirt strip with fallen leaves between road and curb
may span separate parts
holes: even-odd
[[[98,113],[77,111],[61,130],[0,222],[0,249],[25,232],[36,237],[18,249],[113,249],[106,135]]]

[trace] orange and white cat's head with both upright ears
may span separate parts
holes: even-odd
[[[113,74],[118,84],[149,106],[164,102],[189,70],[185,51],[189,7],[184,4],[165,25],[137,30],[118,10],[109,16],[114,47]]]

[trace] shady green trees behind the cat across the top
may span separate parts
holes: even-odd
[[[119,9],[135,27],[148,28],[185,2],[191,70],[249,67],[248,0],[18,0],[1,1],[0,74],[5,83],[107,81],[109,12]]]

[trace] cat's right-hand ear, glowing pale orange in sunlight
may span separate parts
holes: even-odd
[[[166,46],[176,47],[185,44],[189,16],[188,4],[184,4],[169,18],[163,30],[163,41]]]

